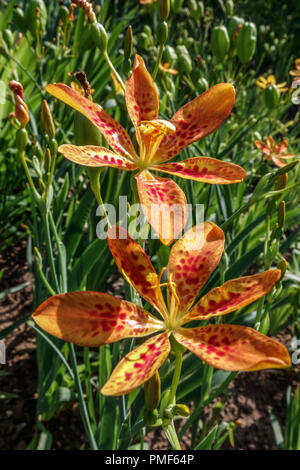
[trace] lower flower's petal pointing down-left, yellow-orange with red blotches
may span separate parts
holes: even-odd
[[[169,352],[168,333],[148,339],[119,362],[101,393],[120,396],[135,390],[155,374]]]

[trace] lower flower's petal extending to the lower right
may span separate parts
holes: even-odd
[[[180,328],[176,340],[217,369],[261,370],[289,367],[291,360],[283,344],[239,325],[207,325]]]

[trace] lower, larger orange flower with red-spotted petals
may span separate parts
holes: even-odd
[[[216,287],[195,303],[222,255],[224,233],[215,224],[199,224],[173,245],[165,283],[161,283],[164,269],[156,273],[125,229],[110,228],[108,243],[125,279],[157,310],[160,319],[131,302],[88,291],[51,297],[33,314],[42,329],[80,346],[152,335],[119,362],[101,390],[104,395],[124,395],[149,380],[170,352],[170,335],[219,369],[249,371],[290,365],[282,344],[252,328],[220,323],[183,327],[192,320],[208,320],[244,307],[280,279],[278,269],[241,277]],[[167,303],[162,286],[167,287]]]

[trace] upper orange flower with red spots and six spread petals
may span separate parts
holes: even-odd
[[[153,175],[150,170],[212,184],[236,183],[246,176],[240,166],[211,157],[163,163],[192,142],[211,134],[227,118],[235,100],[234,89],[229,83],[213,86],[179,109],[171,121],[161,120],[158,119],[159,99],[155,84],[143,59],[136,56],[133,73],[126,84],[125,99],[135,127],[138,153],[125,129],[100,106],[62,83],[47,85],[46,89],[90,119],[112,148],[111,151],[93,145],[61,145],[59,151],[81,165],[138,170],[135,178],[140,202],[149,223],[165,244],[170,244],[185,226],[186,198],[172,179]],[[153,210],[155,207],[160,207],[163,217],[158,217]],[[168,221],[168,236],[162,233],[162,220]]]

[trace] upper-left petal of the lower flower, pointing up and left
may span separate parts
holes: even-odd
[[[158,276],[143,248],[122,227],[109,228],[107,240],[116,265],[125,279],[158,312],[164,314],[167,310],[165,303],[154,288]]]

